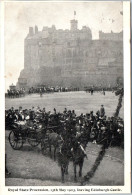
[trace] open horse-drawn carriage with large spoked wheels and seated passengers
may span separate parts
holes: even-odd
[[[41,144],[42,152],[47,147],[48,133],[57,132],[59,126],[43,126],[30,122],[27,124],[24,121],[12,124],[9,133],[9,143],[14,150],[20,150],[24,143],[28,142],[32,147]]]

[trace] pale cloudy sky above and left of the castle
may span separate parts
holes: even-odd
[[[88,26],[93,39],[98,32],[121,32],[123,29],[123,3],[114,2],[5,2],[5,88],[16,84],[24,68],[24,39],[29,27],[55,25],[57,29],[70,29],[70,20],[78,20],[78,28]]]

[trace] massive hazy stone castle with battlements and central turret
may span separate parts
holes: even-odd
[[[74,19],[70,30],[29,27],[18,87],[113,87],[123,82],[123,32],[99,32],[99,39],[92,40],[91,30],[77,25]]]

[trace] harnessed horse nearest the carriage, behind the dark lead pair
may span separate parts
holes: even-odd
[[[42,152],[44,152],[47,148],[49,148],[50,156],[52,157],[51,148],[53,146],[54,160],[56,160],[56,149],[59,148],[62,143],[63,143],[63,138],[61,137],[61,135],[52,131],[47,131],[45,138],[41,142]]]

